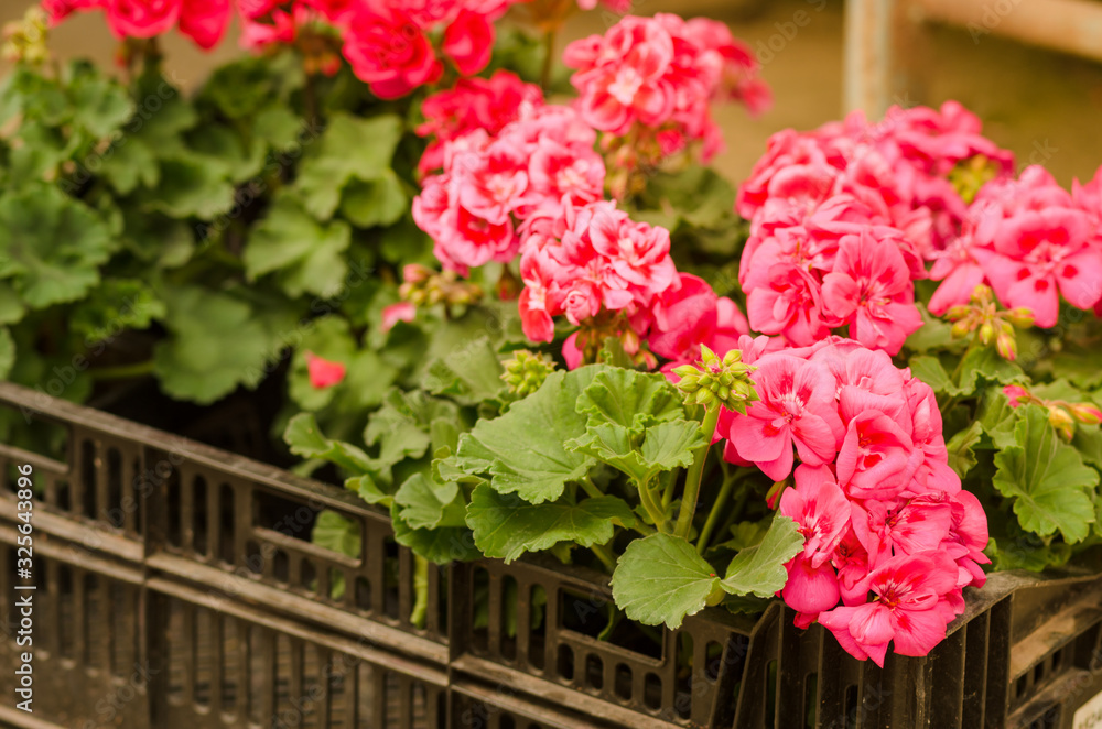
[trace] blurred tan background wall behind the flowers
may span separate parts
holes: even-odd
[[[0,0],[0,20],[20,17],[28,4]],[[774,108],[754,120],[736,107],[717,113],[727,151],[715,165],[733,181],[746,177],[773,132],[813,128],[842,113],[842,0],[636,0],[633,11],[721,19],[759,52]],[[602,33],[615,20],[598,8],[575,15],[566,35]],[[240,53],[231,35],[204,54],[171,34],[164,43],[169,70],[185,86],[201,83],[212,66]],[[62,57],[109,64],[116,43],[101,14],[87,13],[55,29],[51,46]],[[942,26],[930,28],[912,64],[920,74],[904,99],[908,105],[960,100],[1019,163],[1042,163],[1065,184],[1092,177],[1102,164],[1102,64]]]

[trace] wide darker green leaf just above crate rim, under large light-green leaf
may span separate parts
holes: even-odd
[[[549,550],[559,542],[588,547],[613,538],[615,526],[631,526],[630,507],[616,497],[531,504],[487,485],[475,488],[467,507],[467,526],[487,557],[512,562],[526,552]]]

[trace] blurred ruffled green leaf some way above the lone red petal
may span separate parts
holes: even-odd
[[[280,195],[249,236],[245,270],[253,281],[278,273],[280,286],[290,296],[332,296],[348,274],[342,254],[350,241],[347,224],[318,224],[293,195]]]

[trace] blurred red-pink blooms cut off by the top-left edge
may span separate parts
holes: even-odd
[[[52,23],[74,11],[102,10],[119,39],[153,37],[173,28],[201,48],[214,47],[229,24],[229,0],[43,0]]]

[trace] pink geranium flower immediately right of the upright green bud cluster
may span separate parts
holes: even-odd
[[[728,439],[743,458],[779,481],[792,470],[792,446],[811,466],[838,453],[842,421],[834,378],[821,366],[784,353],[767,355],[753,374],[760,401],[732,420]]]

